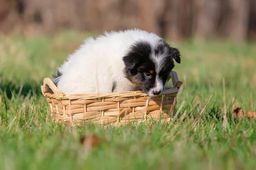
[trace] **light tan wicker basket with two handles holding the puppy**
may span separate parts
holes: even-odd
[[[173,88],[165,88],[162,95],[149,97],[143,91],[129,91],[109,94],[64,94],[49,78],[44,79],[41,91],[47,98],[49,111],[55,122],[64,125],[113,124],[115,126],[142,120],[170,120],[175,113],[177,93],[182,82],[172,71]],[[168,81],[169,81],[168,79]],[[53,93],[46,93],[51,88]]]

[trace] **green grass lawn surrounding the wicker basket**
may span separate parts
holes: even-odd
[[[0,169],[255,168],[256,121],[231,117],[236,107],[256,110],[255,43],[170,42],[182,54],[174,70],[184,82],[177,104],[183,119],[68,130],[50,121],[40,85],[88,35],[0,38]],[[86,132],[104,144],[84,150],[79,136]]]

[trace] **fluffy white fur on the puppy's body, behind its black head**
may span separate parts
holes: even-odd
[[[154,47],[159,40],[156,34],[139,29],[105,32],[95,40],[90,37],[61,65],[58,88],[67,94],[101,94],[133,91],[137,87],[124,77],[122,57],[130,45],[145,40]],[[156,88],[159,83],[156,82]]]

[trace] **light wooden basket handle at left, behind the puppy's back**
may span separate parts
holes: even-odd
[[[56,87],[56,85],[52,82],[52,80],[49,77],[44,79],[44,85],[41,86],[41,91],[44,96],[44,93],[47,88],[52,89],[52,92],[55,94],[56,99],[61,99],[64,96],[64,94]]]

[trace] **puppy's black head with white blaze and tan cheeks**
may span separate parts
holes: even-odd
[[[180,63],[180,52],[162,39],[156,40],[155,44],[140,40],[131,45],[122,59],[125,77],[149,96],[154,96],[162,94],[175,66],[173,59]]]

